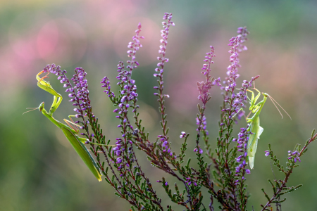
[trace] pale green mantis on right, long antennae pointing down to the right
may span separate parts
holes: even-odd
[[[247,91],[250,91],[252,93],[251,99],[248,97],[248,99],[250,101],[249,102],[250,103],[249,110],[251,110],[249,115],[251,113],[254,113],[253,117],[248,118],[249,117],[249,115],[248,115],[246,118],[247,123],[249,123],[248,131],[251,132],[251,134],[249,134],[249,141],[247,142],[247,157],[248,157],[249,165],[250,165],[251,169],[253,169],[253,167],[254,167],[254,156],[256,153],[256,148],[258,146],[258,140],[260,139],[260,136],[263,132],[263,127],[260,126],[260,117],[259,116],[260,116],[261,110],[264,106],[264,103],[266,103],[266,99],[270,98],[272,103],[274,104],[274,106],[278,109],[278,107],[275,105],[275,103],[278,104],[278,102],[276,102],[271,96],[269,96],[268,94],[266,94],[264,92],[262,92],[263,100],[260,101],[259,103],[256,103],[256,101],[261,96],[261,92],[258,89],[256,89],[255,87],[252,89],[258,91],[259,94],[257,94],[254,97],[254,92],[247,89]],[[274,101],[275,101],[275,103],[274,103]],[[280,104],[278,104],[278,106],[280,106]],[[282,108],[282,106],[280,106],[280,108]],[[284,108],[282,108],[282,110],[284,110]],[[280,112],[279,109],[278,109],[278,111]],[[288,113],[286,111],[285,111],[285,113],[288,115]],[[280,113],[280,115],[282,115],[282,113]],[[288,116],[290,117],[290,115],[288,115]],[[291,117],[290,117],[290,119],[292,120]]]

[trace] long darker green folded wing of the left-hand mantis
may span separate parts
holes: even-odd
[[[85,147],[84,143],[79,141],[77,139],[77,136],[75,136],[75,134],[73,134],[73,132],[71,132],[66,127],[62,127],[61,129],[62,129],[63,133],[65,134],[66,138],[68,139],[68,141],[71,143],[71,145],[73,146],[73,148],[77,152],[77,154],[80,155],[80,158],[82,158],[82,160],[84,160],[84,162],[87,165],[87,167],[89,168],[89,170],[92,171],[92,174],[94,174],[94,176],[99,181],[101,181],[101,174],[99,172],[99,167],[97,166],[97,163],[92,158],[92,155],[90,155],[90,153],[87,150],[87,148]]]

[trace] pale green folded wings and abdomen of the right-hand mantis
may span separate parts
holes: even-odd
[[[254,156],[256,153],[256,148],[258,146],[258,139],[260,139],[260,135],[263,132],[263,127],[260,126],[260,117],[257,115],[254,120],[250,124],[250,131],[253,134],[249,135],[249,141],[247,146],[247,155],[249,158],[250,168],[254,167]]]

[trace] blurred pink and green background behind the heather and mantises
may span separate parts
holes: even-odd
[[[224,79],[230,64],[228,40],[237,27],[247,26],[248,51],[241,54],[239,82],[261,75],[256,88],[264,91],[292,116],[281,119],[273,103],[261,112],[264,132],[259,141],[255,167],[247,175],[249,210],[266,203],[261,188],[271,194],[267,179],[274,179],[270,159],[264,156],[268,143],[282,164],[287,151],[304,144],[317,127],[317,2],[316,1],[0,1],[0,210],[128,210],[105,181],[97,182],[76,155],[62,132],[38,110],[26,113],[51,94],[37,87],[35,75],[48,63],[56,63],[73,75],[85,68],[94,114],[107,139],[119,135],[113,106],[100,87],[107,75],[116,89],[116,65],[126,61],[127,44],[142,23],[143,48],[137,52],[139,68],[133,72],[139,93],[142,120],[152,140],[161,134],[158,103],[153,95],[156,57],[163,13],[173,13],[175,27],[168,38],[165,91],[170,140],[180,150],[180,132],[191,134],[188,157],[194,157],[197,115],[197,81],[204,53],[216,49],[212,75]],[[64,89],[54,75],[49,81],[65,96],[54,113],[57,120],[73,114]],[[212,146],[218,135],[221,91],[213,87],[207,110]],[[237,125],[235,134],[245,122]],[[114,141],[113,141],[114,142]],[[304,184],[287,194],[283,210],[317,210],[317,143],[309,146],[290,185]],[[139,153],[144,171],[164,204],[172,204],[156,180],[173,179],[149,165]],[[283,179],[275,171],[277,179]],[[207,198],[207,197],[206,197]],[[209,203],[208,200],[205,203]],[[173,210],[182,210],[174,204]]]

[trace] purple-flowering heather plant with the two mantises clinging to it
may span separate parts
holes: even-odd
[[[120,128],[120,134],[116,138],[115,146],[109,145],[115,141],[106,139],[106,134],[103,133],[98,118],[92,112],[92,102],[89,99],[86,79],[87,72],[83,68],[76,68],[75,75],[71,79],[66,76],[66,70],[61,70],[61,67],[55,64],[46,65],[44,70],[40,72],[46,72],[47,75],[49,73],[56,74],[58,80],[66,88],[66,92],[69,93],[70,102],[75,106],[74,111],[76,114],[73,116],[77,120],[75,122],[67,121],[69,128],[63,124],[63,128],[68,132],[66,137],[71,143],[72,141],[79,143],[76,146],[72,143],[76,151],[85,151],[87,153],[86,146],[89,148],[93,158],[90,154],[89,158],[85,153],[82,155],[78,154],[80,154],[81,158],[86,156],[82,160],[85,159],[86,165],[90,166],[89,169],[94,169],[95,167],[97,172],[92,170],[94,175],[97,175],[96,177],[99,179],[100,172],[102,179],[106,180],[114,188],[116,196],[127,200],[131,204],[131,210],[173,210],[173,207],[176,206],[180,206],[182,210],[214,210],[215,201],[220,204],[218,207],[220,210],[247,210],[250,194],[247,191],[245,175],[251,173],[248,167],[251,159],[253,159],[252,163],[254,164],[257,141],[263,131],[259,126],[259,122],[256,121],[259,121],[261,108],[268,96],[263,94],[263,101],[256,103],[261,97],[260,92],[257,96],[254,96],[252,92],[251,99],[247,95],[247,91],[255,88],[252,87],[259,75],[243,80],[242,84],[239,85],[241,83],[238,71],[241,68],[239,56],[242,51],[247,50],[247,46],[245,46],[245,41],[247,41],[247,35],[249,34],[247,27],[239,27],[237,36],[232,37],[229,41],[230,65],[227,68],[227,76],[223,79],[223,82],[221,82],[220,77],[216,79],[211,76],[211,65],[213,64],[213,58],[216,56],[213,46],[210,46],[209,52],[206,53],[204,65],[201,68],[201,73],[205,79],[203,82],[197,82],[199,91],[196,119],[197,134],[192,136],[187,132],[181,132],[182,146],[180,153],[177,153],[177,151],[172,149],[171,143],[178,140],[171,140],[168,136],[169,128],[165,101],[169,96],[164,92],[163,86],[164,68],[166,68],[166,63],[168,63],[168,58],[166,58],[168,34],[170,28],[174,26],[172,14],[165,13],[163,20],[161,46],[159,46],[159,56],[157,57],[159,63],[157,63],[157,68],[154,70],[154,77],[157,78],[154,95],[157,96],[157,101],[159,102],[161,134],[157,134],[155,140],[150,140],[149,133],[139,118],[139,109],[142,108],[138,106],[137,86],[135,85],[135,79],[132,78],[132,72],[137,71],[136,69],[140,65],[137,62],[137,51],[142,47],[141,39],[144,38],[140,35],[142,26],[139,24],[135,31],[135,36],[132,37],[132,41],[128,44],[129,50],[127,53],[129,60],[126,63],[122,61],[118,63],[118,76],[116,77],[118,81],[116,84],[111,87],[108,77],[104,77],[101,80],[101,87],[104,87],[106,97],[115,107],[113,112],[116,113],[118,126],[113,125],[113,127]],[[53,88],[47,88],[51,85],[44,81],[47,75],[38,78],[38,84],[39,87],[42,85],[42,89],[53,94],[51,91]],[[219,110],[220,119],[209,120],[218,121],[218,137],[209,134],[206,125],[206,104],[211,100],[210,91],[212,87],[214,87],[213,89],[219,87],[223,91],[223,101],[219,102],[221,105]],[[118,94],[114,94],[113,89],[118,90]],[[57,96],[54,94],[54,103],[49,111],[49,116],[46,115],[46,117],[52,118],[52,114],[59,106],[59,103],[61,103],[61,98],[58,98],[57,101]],[[244,121],[244,110],[247,110],[248,99],[250,113],[254,116],[247,118],[248,121],[246,122]],[[39,110],[42,111],[43,109],[44,104],[41,104]],[[131,113],[132,115],[130,115]],[[235,134],[233,129],[238,121],[245,122],[245,127],[241,128],[238,134]],[[55,124],[57,125],[58,123]],[[75,130],[74,127],[76,128]],[[77,127],[81,129],[81,137],[75,135],[75,132],[79,131]],[[253,130],[255,127],[256,132]],[[70,128],[73,128],[73,130]],[[303,147],[301,144],[297,144],[293,151],[288,151],[288,159],[285,166],[274,155],[271,144],[268,145],[268,151],[257,154],[257,159],[263,158],[264,154],[271,158],[273,165],[285,176],[273,181],[268,179],[273,189],[273,195],[266,193],[262,188],[267,201],[259,202],[261,210],[273,210],[273,205],[276,210],[281,210],[281,203],[286,199],[283,195],[302,186],[289,186],[287,181],[294,168],[299,166],[300,157],[306,153],[309,144],[316,138],[317,134],[313,130]],[[195,141],[194,148],[187,148],[189,141]],[[187,158],[187,151],[194,151],[196,158]],[[155,181],[147,177],[138,162],[138,159],[145,156],[144,153],[151,165],[170,174],[171,177],[175,177],[178,183],[171,186],[168,180],[163,177],[156,181],[161,183],[163,189],[154,190],[152,183]],[[197,162],[197,165],[195,165],[197,167],[191,165],[191,160]],[[162,205],[162,200],[159,196],[163,194],[163,190],[170,198],[172,205],[167,207]],[[207,193],[204,190],[208,191],[208,196],[204,194]],[[203,197],[205,197],[204,201]],[[206,203],[207,198],[209,199],[208,203]],[[260,208],[259,205],[253,205],[252,207],[255,210]]]

